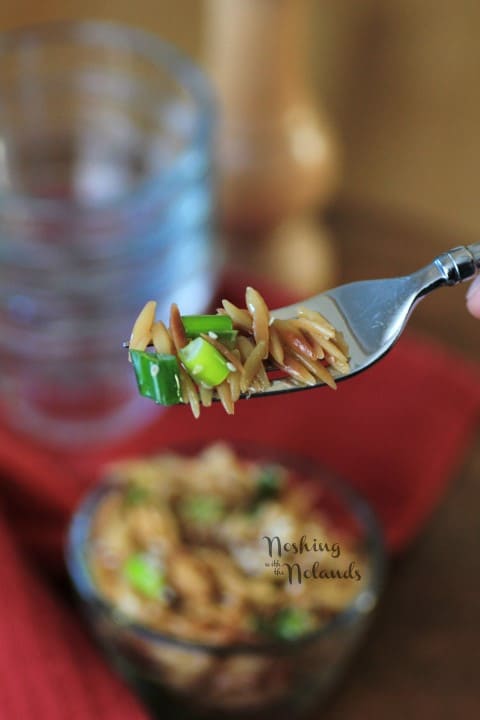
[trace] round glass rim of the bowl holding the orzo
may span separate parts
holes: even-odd
[[[278,462],[280,464],[283,463],[290,470],[296,470],[298,472],[300,468],[300,472],[302,469],[307,470],[310,475],[312,471],[316,470],[318,472],[320,470],[322,486],[326,487],[327,490],[332,492],[334,496],[338,496],[342,505],[348,510],[349,514],[354,516],[355,519],[360,522],[362,529],[365,530],[366,547],[369,552],[371,572],[368,585],[363,592],[369,591],[373,594],[374,602],[372,606],[366,611],[362,610],[360,598],[362,597],[363,592],[359,592],[355,596],[354,600],[346,608],[334,615],[334,617],[329,620],[326,625],[295,640],[277,640],[262,643],[237,642],[228,644],[210,644],[175,637],[174,635],[169,635],[168,632],[155,630],[154,628],[150,628],[140,622],[132,620],[122,611],[115,608],[112,603],[100,594],[95,586],[88,568],[87,559],[85,557],[85,548],[86,543],[88,542],[90,521],[93,512],[105,495],[114,490],[118,490],[118,485],[110,480],[108,475],[84,497],[83,501],[80,503],[71,518],[67,532],[65,544],[66,565],[74,588],[82,601],[89,607],[93,606],[108,614],[110,618],[115,618],[119,621],[122,631],[137,634],[145,640],[156,643],[181,647],[185,650],[191,650],[194,652],[208,652],[216,656],[225,656],[233,653],[264,655],[265,653],[271,653],[272,651],[288,651],[292,648],[306,645],[321,637],[327,637],[338,629],[348,627],[357,618],[365,618],[367,620],[371,617],[378,604],[378,600],[383,589],[387,568],[387,556],[382,529],[367,500],[365,500],[360,493],[354,490],[344,479],[340,478],[336,472],[332,471],[323,463],[320,463],[319,461],[306,455],[286,452],[260,444],[247,445],[235,442],[235,440],[227,440],[226,442],[235,452],[241,453],[242,449],[246,447],[250,448],[250,450],[253,450],[254,452],[261,451],[263,460]],[[195,443],[193,445],[169,445],[165,448],[159,449],[159,451],[154,454],[158,455],[166,452],[187,454],[192,450],[196,452],[198,449],[206,446],[206,443]],[[243,456],[242,459],[244,459]],[[246,457],[245,459],[255,460],[255,456]]]

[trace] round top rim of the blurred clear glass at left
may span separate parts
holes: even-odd
[[[89,45],[102,47],[107,44],[143,58],[163,71],[168,71],[170,77],[187,91],[195,104],[197,112],[194,128],[185,147],[166,170],[154,171],[118,196],[98,203],[80,204],[65,198],[38,197],[28,193],[0,190],[0,209],[7,203],[13,207],[16,205],[24,207],[25,203],[28,203],[29,211],[38,215],[49,215],[52,212],[70,215],[72,212],[85,211],[100,215],[112,210],[122,210],[123,207],[128,208],[135,200],[155,194],[159,181],[162,185],[171,188],[177,176],[181,176],[179,165],[181,166],[183,159],[204,141],[207,144],[210,142],[217,113],[215,93],[206,73],[186,53],[153,32],[135,25],[96,19],[45,22],[0,32],[0,64],[6,53],[12,50],[21,51],[22,46],[29,45],[40,47],[45,44],[45,47],[48,47],[49,43],[61,39],[78,47]]]

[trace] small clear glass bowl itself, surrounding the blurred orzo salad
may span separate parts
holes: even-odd
[[[295,480],[313,482],[319,507],[348,530],[368,562],[368,580],[329,623],[298,640],[262,645],[207,645],[139,625],[100,595],[88,566],[91,520],[118,484],[106,479],[75,513],[67,566],[94,634],[113,666],[154,717],[275,718],[301,716],[330,693],[357,648],[376,607],[385,574],[382,534],[367,503],[317,463],[276,450],[235,446],[241,458],[280,463]],[[197,448],[198,450],[198,448]],[[184,451],[182,454],[192,454]],[[195,451],[196,452],[196,451]]]

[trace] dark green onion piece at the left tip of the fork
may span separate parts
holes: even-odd
[[[175,355],[131,350],[138,390],[160,405],[182,402],[180,373]]]

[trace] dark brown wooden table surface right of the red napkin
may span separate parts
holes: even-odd
[[[395,214],[341,206],[330,218],[344,277],[409,273],[473,242]],[[477,238],[478,240],[478,238]],[[465,287],[434,293],[414,313],[423,333],[480,360],[480,321]],[[480,717],[480,438],[433,519],[391,568],[376,622],[322,720]]]

